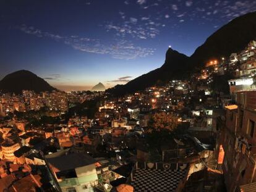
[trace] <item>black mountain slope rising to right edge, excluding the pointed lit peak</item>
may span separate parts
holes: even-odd
[[[229,57],[256,39],[256,12],[231,20],[207,38],[190,56],[190,64],[202,66],[215,57]]]

